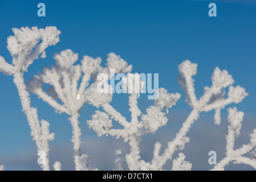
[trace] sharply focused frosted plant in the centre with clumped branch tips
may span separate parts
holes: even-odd
[[[137,73],[135,73],[133,77],[140,79]],[[127,78],[123,80],[123,86],[126,90],[131,89],[131,87],[136,88],[136,85],[131,84],[131,81],[127,83]],[[128,92],[129,111],[131,111],[130,122],[110,105],[113,96],[111,92],[99,93],[97,91],[97,85],[92,85],[85,93],[86,100],[97,108],[101,106],[105,112],[96,110],[95,114],[92,115],[92,119],[87,121],[87,124],[99,137],[104,134],[112,135],[116,138],[121,137],[124,139],[124,142],[129,143],[131,151],[130,154],[125,156],[129,169],[156,169],[156,165],[153,166],[140,159],[139,143],[141,136],[147,133],[155,133],[159,127],[166,125],[168,118],[166,117],[166,113],[162,112],[162,110],[165,107],[169,108],[175,105],[180,98],[180,94],[169,94],[166,89],[160,88],[158,98],[155,100],[155,105],[148,107],[147,114],[142,114],[137,106],[137,100],[140,98],[141,89],[143,88],[143,82],[140,81],[140,83],[141,85],[134,90],[135,92]],[[109,85],[109,87],[111,86]],[[123,129],[111,129],[112,120],[119,122],[120,125],[123,126]]]

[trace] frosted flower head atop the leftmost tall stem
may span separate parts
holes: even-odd
[[[27,71],[41,53],[46,57],[44,49],[59,42],[60,31],[53,26],[44,29],[22,27],[13,28],[13,33],[14,36],[7,38],[7,49],[13,57],[13,65],[21,71]]]

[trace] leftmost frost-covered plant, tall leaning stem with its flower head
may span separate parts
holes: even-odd
[[[44,151],[46,154],[46,164],[41,167],[48,170],[48,141],[54,139],[54,134],[49,133],[49,123],[42,119],[39,122],[37,110],[31,107],[29,92],[26,90],[23,74],[27,71],[30,64],[38,56],[46,57],[44,51],[48,46],[59,42],[60,31],[56,27],[40,28],[22,27],[13,28],[14,36],[7,38],[7,49],[13,57],[13,64],[9,64],[0,56],[0,72],[13,76],[14,84],[17,86],[19,97],[21,99],[22,109],[27,116],[31,129],[31,136],[35,140],[38,151]]]

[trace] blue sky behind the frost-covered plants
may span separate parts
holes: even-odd
[[[46,5],[46,17],[37,16],[39,2]],[[103,59],[102,64],[105,63],[104,60],[109,52],[115,52],[128,64],[133,65],[133,73],[159,73],[160,87],[182,95],[168,115],[173,123],[169,122],[165,129],[161,130],[169,138],[178,131],[190,111],[185,102],[184,92],[177,82],[178,64],[185,59],[198,64],[198,72],[194,77],[198,97],[201,96],[204,86],[210,86],[210,77],[214,68],[218,66],[226,69],[233,76],[234,85],[243,86],[249,93],[249,97],[245,98],[241,104],[230,105],[237,106],[238,110],[245,112],[245,121],[248,122],[243,123],[243,126],[248,133],[244,132],[245,135],[242,136],[246,141],[247,134],[251,132],[250,129],[256,127],[256,5],[253,1],[242,3],[245,2],[242,0],[212,2],[217,4],[217,17],[208,16],[209,1],[2,0],[0,1],[0,55],[11,63],[11,56],[6,48],[6,39],[12,35],[11,28],[56,26],[62,31],[60,42],[46,49],[46,59],[36,60],[29,67],[28,72],[25,73],[26,81],[38,71],[42,71],[43,67],[55,64],[52,59],[54,53],[67,48],[78,52],[79,60],[83,55],[99,56]],[[17,89],[10,76],[0,74],[0,81],[2,85],[0,89],[0,164],[2,160],[3,164],[7,163],[6,169],[40,169],[36,164],[35,143],[31,140],[26,116],[21,111]],[[129,118],[127,97],[116,96],[115,98],[113,105]],[[153,104],[153,101],[148,101],[146,96],[143,96],[139,102],[142,111]],[[67,121],[68,116],[55,114],[54,109],[40,101],[34,94],[31,94],[31,103],[38,108],[39,118],[50,122],[50,131],[56,135],[55,140],[50,143],[50,147],[55,148],[51,151],[59,154],[56,145],[62,144],[63,148],[67,148],[71,144],[71,126]],[[95,108],[91,105],[86,105],[80,113],[82,142],[84,141],[82,152],[90,151],[86,147],[87,142],[97,143],[101,140],[115,142],[109,137],[97,138],[94,131],[88,129],[86,120],[91,118],[94,110]],[[204,119],[208,125],[201,122],[201,125],[205,126],[202,128],[201,125],[195,124],[190,134],[198,139],[200,134],[202,136],[208,134],[205,131],[212,127],[216,127],[216,132],[225,131],[226,110],[223,110],[222,114],[223,124],[218,127],[212,124],[212,112],[202,115],[201,121]],[[198,131],[201,128],[202,130]],[[161,135],[161,133],[158,134]],[[225,135],[221,137],[220,141],[225,144]],[[217,138],[213,142],[215,148],[220,147]],[[158,139],[166,141],[164,137],[158,137]],[[193,144],[196,146],[198,142],[192,140],[191,145]],[[72,153],[72,147],[70,151]],[[189,149],[185,151],[190,155]],[[193,150],[190,148],[190,151]],[[147,158],[152,150],[149,150],[149,154],[144,153]],[[51,162],[58,158],[58,155],[54,154],[52,153],[54,159],[50,156]],[[26,155],[29,157],[26,158]],[[195,159],[193,155],[188,157]],[[63,158],[59,160],[63,161],[66,158],[67,156],[63,154]],[[10,159],[14,161],[10,162]],[[24,161],[19,162],[18,159],[21,161],[24,159]],[[70,165],[73,165],[72,155],[68,156],[68,159],[71,161]],[[193,162],[197,163],[197,161]],[[68,162],[66,163],[68,166]],[[200,162],[195,165],[196,167],[198,165],[196,169],[200,169]],[[67,166],[63,168],[72,169]],[[205,168],[207,167],[209,166],[205,164]]]

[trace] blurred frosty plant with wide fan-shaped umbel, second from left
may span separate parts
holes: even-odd
[[[92,77],[97,82],[97,73],[106,73],[110,78],[110,69],[115,69],[117,73],[126,73],[131,72],[132,66],[115,53],[108,54],[105,68],[100,66],[100,57],[94,59],[90,56],[83,56],[81,64],[74,65],[78,60],[78,53],[74,53],[70,49],[62,51],[60,54],[55,53],[54,59],[56,65],[52,65],[51,68],[45,67],[43,72],[39,72],[38,75],[29,80],[27,89],[31,93],[37,94],[39,98],[42,98],[59,113],[66,113],[71,116],[69,121],[72,125],[75,169],[78,171],[86,170],[86,166],[90,164],[80,164],[80,162],[87,162],[88,160],[85,160],[84,156],[79,159],[81,130],[78,118],[79,111],[87,103],[82,97],[83,93],[86,92]],[[43,90],[44,84],[50,85],[46,92]]]

